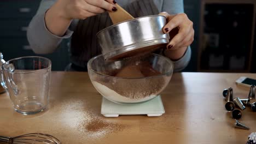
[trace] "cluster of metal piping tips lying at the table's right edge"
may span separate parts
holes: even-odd
[[[247,99],[240,99],[238,97],[234,98],[233,89],[231,87],[228,89],[224,89],[222,94],[226,101],[225,109],[231,112],[232,118],[236,120],[234,124],[235,128],[248,130],[249,127],[237,121],[237,119],[240,119],[242,117],[242,112],[240,110],[245,110],[246,106],[251,107],[251,110],[256,112],[256,103],[254,102],[251,104],[251,100],[255,99],[255,86],[251,86]],[[240,110],[236,109],[236,107],[238,107]]]

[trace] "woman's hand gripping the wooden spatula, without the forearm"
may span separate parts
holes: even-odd
[[[116,11],[115,3],[113,0],[58,0],[53,8],[64,19],[86,19],[105,10]]]

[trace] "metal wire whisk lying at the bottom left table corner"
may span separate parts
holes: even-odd
[[[42,133],[31,133],[31,134],[25,134],[25,135],[20,135],[15,137],[0,136],[0,143],[1,144],[25,144],[25,143],[61,144],[60,140],[58,140],[56,137],[48,134],[42,134]]]

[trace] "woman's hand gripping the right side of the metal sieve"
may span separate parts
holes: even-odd
[[[193,22],[184,13],[170,15],[166,12],[160,13],[167,17],[164,33],[170,34],[170,43],[167,45],[165,55],[172,60],[181,58],[188,46],[194,41]]]

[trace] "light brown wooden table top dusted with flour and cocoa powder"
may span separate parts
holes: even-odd
[[[250,130],[236,129],[224,108],[222,91],[233,87],[234,97],[246,98],[249,88],[236,86],[240,76],[255,74],[175,73],[161,93],[160,117],[101,115],[101,95],[88,73],[53,72],[49,108],[36,115],[14,111],[8,93],[0,95],[0,135],[46,133],[62,143],[246,143],[256,131],[256,113],[242,111]]]

